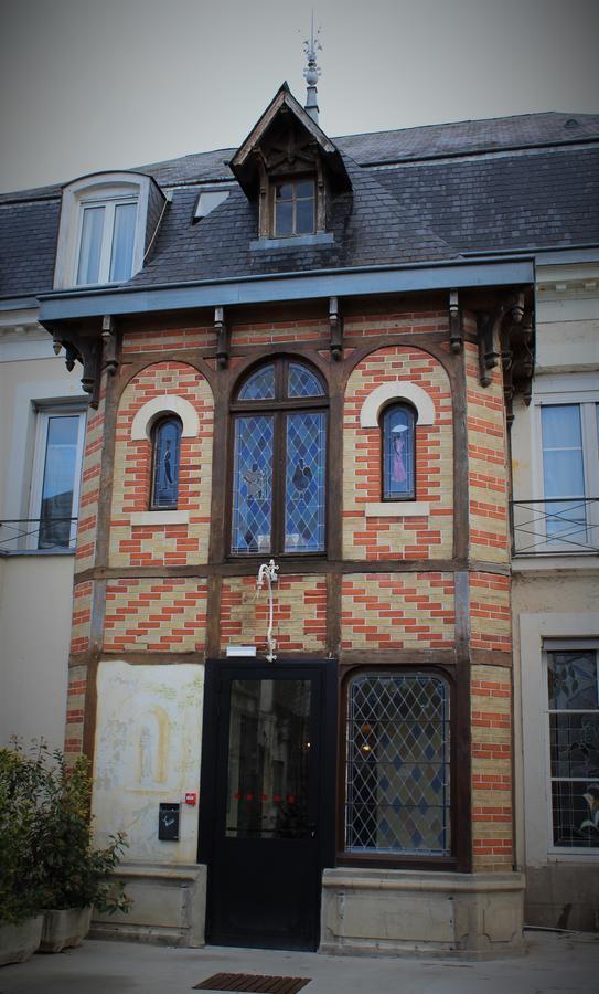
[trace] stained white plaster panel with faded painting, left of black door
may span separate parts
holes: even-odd
[[[127,833],[127,863],[196,861],[203,688],[203,666],[99,664],[93,814],[98,842]],[[158,839],[161,802],[181,802],[179,842]]]

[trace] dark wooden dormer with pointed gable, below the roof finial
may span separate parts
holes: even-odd
[[[258,236],[269,244],[325,235],[332,198],[351,189],[339,149],[287,83],[229,166],[257,202]]]

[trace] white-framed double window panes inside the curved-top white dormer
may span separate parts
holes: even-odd
[[[82,203],[76,283],[129,279],[133,263],[137,199]]]

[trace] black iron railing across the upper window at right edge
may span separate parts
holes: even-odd
[[[512,501],[514,557],[593,552],[599,552],[599,497]]]

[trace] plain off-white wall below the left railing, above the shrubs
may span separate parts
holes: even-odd
[[[0,559],[0,742],[40,737],[62,748],[73,556]]]

